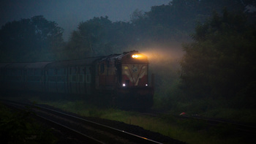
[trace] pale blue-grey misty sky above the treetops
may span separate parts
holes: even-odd
[[[1,0],[0,25],[43,15],[64,29],[67,40],[78,23],[106,15],[115,22],[129,21],[136,9],[148,12],[152,6],[168,4],[171,0]]]

